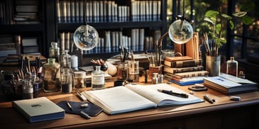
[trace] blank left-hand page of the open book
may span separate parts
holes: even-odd
[[[144,108],[155,108],[157,106],[152,101],[126,89],[124,86],[96,91],[84,91],[82,94],[89,101],[100,106],[109,114],[137,111]]]

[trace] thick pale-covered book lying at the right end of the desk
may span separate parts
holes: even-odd
[[[205,77],[204,86],[226,95],[258,90],[258,84],[255,82],[222,73],[217,77]]]

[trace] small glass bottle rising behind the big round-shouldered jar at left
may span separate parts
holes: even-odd
[[[50,58],[55,58],[56,62],[60,62],[60,47],[57,46],[57,42],[51,42],[49,52]]]

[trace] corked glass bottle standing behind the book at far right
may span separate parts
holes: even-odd
[[[238,62],[235,57],[230,57],[230,60],[226,62],[226,74],[238,77]]]

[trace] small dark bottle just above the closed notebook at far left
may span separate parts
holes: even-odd
[[[33,84],[31,80],[25,80],[23,84],[23,99],[33,99]]]

